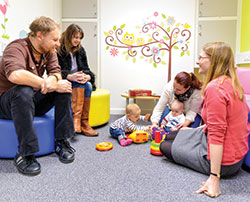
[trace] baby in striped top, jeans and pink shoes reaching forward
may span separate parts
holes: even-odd
[[[132,140],[127,139],[126,133],[131,133],[135,130],[150,131],[151,125],[136,125],[138,120],[147,121],[149,117],[150,114],[142,116],[140,107],[135,103],[130,103],[126,107],[126,115],[110,124],[110,135],[118,139],[121,146],[127,146],[132,143]]]

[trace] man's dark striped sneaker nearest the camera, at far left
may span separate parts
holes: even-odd
[[[41,165],[34,155],[21,156],[17,154],[14,158],[17,170],[24,175],[38,175],[41,172]]]

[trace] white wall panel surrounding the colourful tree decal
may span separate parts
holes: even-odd
[[[137,50],[138,56],[136,56],[135,63],[132,58],[125,59],[125,55],[122,54],[125,49],[122,48],[118,48],[117,56],[111,56],[111,47],[106,50],[104,32],[112,30],[114,25],[120,27],[122,24],[126,24],[123,34],[128,32],[147,38],[148,34],[140,35],[136,26],[143,26],[146,21],[166,24],[166,19],[164,20],[161,16],[162,13],[167,17],[174,17],[176,23],[188,23],[191,25],[189,30],[192,33],[188,45],[190,56],[181,57],[180,51],[172,51],[172,77],[179,71],[193,71],[195,0],[102,0],[99,10],[101,87],[111,92],[111,113],[124,111],[125,99],[120,96],[121,93],[129,89],[142,88],[160,94],[168,78],[168,65],[160,64],[154,68],[149,62],[139,59],[140,50]],[[158,12],[157,17],[154,16],[154,12]],[[165,62],[168,62],[167,55],[162,57]]]

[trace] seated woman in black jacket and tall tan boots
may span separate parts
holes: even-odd
[[[83,30],[76,24],[68,26],[60,38],[57,51],[62,77],[72,82],[72,112],[76,133],[97,136],[98,132],[89,125],[89,108],[92,90],[95,90],[95,75],[91,72],[87,55],[81,45]]]

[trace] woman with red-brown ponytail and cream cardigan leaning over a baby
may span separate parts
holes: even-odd
[[[180,72],[173,81],[170,81],[164,88],[160,100],[154,108],[151,116],[152,125],[157,127],[161,120],[169,113],[169,108],[174,99],[184,103],[184,113],[186,120],[179,126],[187,127],[194,122],[200,110],[202,83],[194,73]]]

